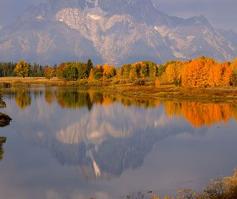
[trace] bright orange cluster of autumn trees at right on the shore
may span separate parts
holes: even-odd
[[[199,57],[189,61],[171,61],[159,66],[156,85],[182,87],[228,87],[237,85],[237,59],[220,63]]]

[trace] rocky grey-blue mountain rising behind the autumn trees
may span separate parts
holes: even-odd
[[[236,41],[205,17],[169,16],[151,0],[48,0],[0,29],[1,61],[119,65],[201,55],[229,60],[236,51]]]

